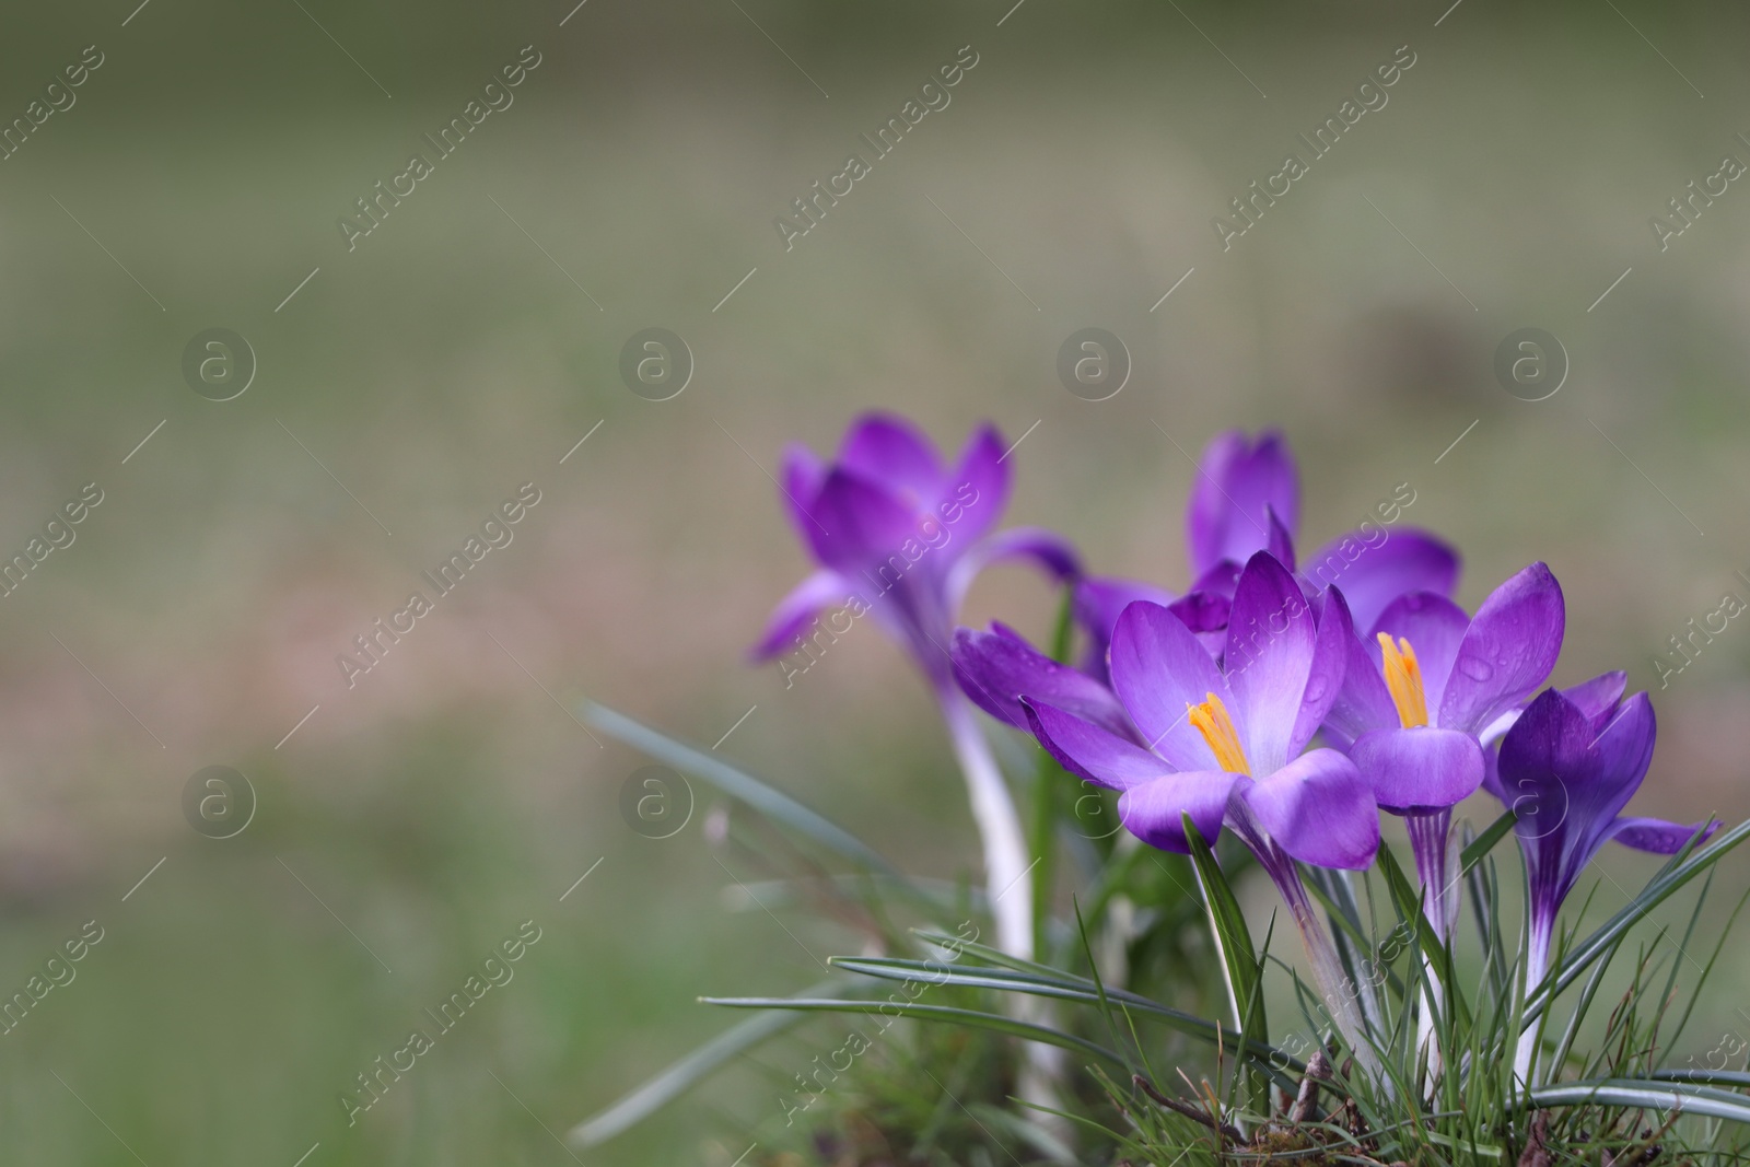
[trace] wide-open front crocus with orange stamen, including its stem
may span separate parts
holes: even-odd
[[[1209,842],[1234,831],[1281,891],[1334,1018],[1370,1062],[1353,989],[1295,868],[1362,870],[1379,849],[1379,810],[1354,763],[1302,752],[1337,698],[1353,639],[1342,593],[1314,607],[1260,551],[1236,581],[1222,663],[1176,614],[1139,600],[1113,628],[1110,691],[1006,630],[956,633],[956,668],[998,716],[1018,705],[1066,770],[1120,791],[1118,815],[1144,843],[1188,850],[1186,815]]]

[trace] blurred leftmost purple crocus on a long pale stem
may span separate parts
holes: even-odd
[[[906,647],[934,688],[966,775],[998,945],[1031,955],[1032,894],[1020,819],[973,710],[954,684],[948,639],[956,609],[985,565],[1022,556],[1069,579],[1078,570],[1074,551],[1043,530],[992,534],[1010,481],[1003,441],[989,425],[947,467],[929,439],[903,418],[866,415],[845,434],[831,464],[791,446],[780,488],[819,569],[777,605],[754,656],[808,651],[822,635],[821,612],[840,607],[854,616],[870,612]],[[786,668],[786,679],[800,670]]]

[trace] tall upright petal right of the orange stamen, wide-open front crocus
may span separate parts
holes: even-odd
[[[1253,555],[1239,574],[1222,654],[1237,703],[1234,724],[1253,773],[1270,773],[1293,752],[1316,642],[1312,607],[1300,584],[1269,551]]]

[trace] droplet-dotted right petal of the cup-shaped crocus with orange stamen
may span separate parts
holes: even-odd
[[[1544,563],[1496,588],[1460,644],[1437,724],[1475,733],[1535,693],[1556,667],[1564,625],[1561,584]]]

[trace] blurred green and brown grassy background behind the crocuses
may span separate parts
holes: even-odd
[[[704,791],[674,838],[628,829],[644,759],[567,716],[584,695],[705,745],[756,707],[724,756],[919,871],[975,871],[892,646],[854,633],[791,689],[746,665],[805,569],[768,472],[868,408],[948,446],[984,418],[1026,434],[1010,520],[1169,586],[1188,455],[1220,429],[1288,432],[1309,548],[1407,481],[1407,521],[1466,553],[1466,604],[1554,567],[1559,682],[1654,689],[1638,807],[1743,814],[1750,632],[1664,691],[1652,661],[1750,598],[1750,194],[1664,252],[1648,217],[1750,159],[1750,14],[1010,3],[5,16],[0,124],[86,45],[103,63],[0,161],[0,549],[86,483],[103,502],[0,602],[0,990],[86,920],[105,938],[0,1039],[0,1158],[569,1162],[555,1132],[728,1024],[698,994],[817,976],[802,941],[831,933],[724,899],[758,871],[712,857]],[[525,45],[514,105],[348,252],[338,219]],[[786,252],[774,217],[961,45],[952,103]],[[1211,217],[1400,45],[1390,103],[1223,252]],[[696,360],[667,402],[618,374],[649,325]],[[1134,359],[1111,401],[1057,380],[1085,325]],[[234,401],[184,383],[212,327],[259,362]],[[1572,359],[1547,401],[1491,371],[1521,327]],[[348,689],[336,654],[530,481],[514,542]],[[968,619],[1050,611],[999,572]],[[259,796],[229,840],[184,821],[208,765]],[[514,982],[348,1129],[355,1074],[523,920]],[[1717,985],[1698,1048],[1743,1029],[1740,997]],[[581,1158],[726,1167],[768,1095],[732,1071]]]

